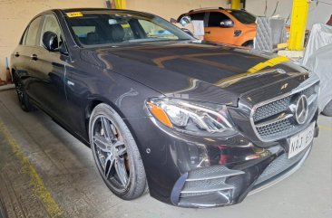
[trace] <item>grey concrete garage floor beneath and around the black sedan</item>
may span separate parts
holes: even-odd
[[[149,194],[117,198],[90,148],[41,111],[24,113],[14,90],[0,90],[0,197],[9,217],[332,217],[332,118],[318,121],[315,147],[294,175],[238,205],[187,209]]]

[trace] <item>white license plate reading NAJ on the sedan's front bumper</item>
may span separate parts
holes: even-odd
[[[315,135],[315,122],[310,124],[308,128],[298,133],[293,137],[290,137],[288,158],[298,155],[311,143]]]

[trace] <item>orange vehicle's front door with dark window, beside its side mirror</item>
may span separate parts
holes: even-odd
[[[217,43],[234,43],[234,27],[221,27],[220,22],[231,20],[221,12],[210,12],[204,40]]]

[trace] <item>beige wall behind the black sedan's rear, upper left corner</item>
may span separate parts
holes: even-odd
[[[9,57],[24,28],[34,15],[50,8],[105,7],[105,0],[1,0],[0,77],[5,80],[5,57]]]

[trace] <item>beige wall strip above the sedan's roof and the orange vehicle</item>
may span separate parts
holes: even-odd
[[[127,0],[128,9],[158,14],[166,20],[200,7],[227,7],[228,0]]]

